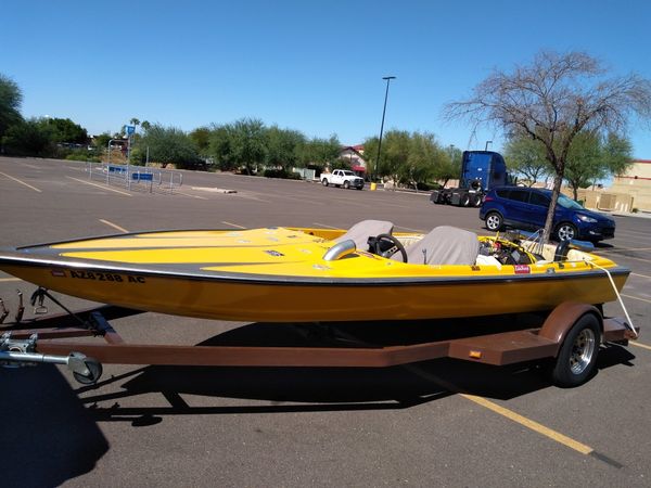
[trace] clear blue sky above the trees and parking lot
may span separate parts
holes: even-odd
[[[583,51],[609,75],[651,79],[648,0],[21,0],[1,18],[0,73],[23,116],[91,134],[133,117],[186,131],[251,117],[359,144],[379,136],[395,76],[385,132],[500,151],[501,132],[442,118],[496,69]],[[633,120],[628,137],[651,159],[651,127]]]

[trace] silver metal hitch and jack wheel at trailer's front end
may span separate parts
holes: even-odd
[[[11,332],[0,337],[0,365],[21,368],[40,363],[65,364],[73,376],[84,385],[97,383],[102,375],[102,364],[81,352],[71,352],[67,356],[42,355],[36,351],[38,334],[31,334],[27,339],[12,339]]]

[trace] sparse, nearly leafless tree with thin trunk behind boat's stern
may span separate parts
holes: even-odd
[[[631,117],[651,118],[651,81],[631,74],[607,78],[605,69],[582,52],[544,51],[531,65],[495,72],[469,100],[451,102],[445,118],[468,119],[473,131],[493,125],[507,134],[526,134],[545,147],[554,171],[545,240],[552,232],[558,195],[572,141],[584,131],[623,133]]]

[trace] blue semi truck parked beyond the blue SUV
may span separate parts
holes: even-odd
[[[501,154],[493,151],[464,151],[459,188],[434,190],[430,200],[435,204],[478,207],[488,190],[505,184],[511,184],[511,181]]]

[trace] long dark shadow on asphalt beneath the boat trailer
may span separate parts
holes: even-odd
[[[520,326],[506,321],[501,324],[502,329]],[[376,345],[387,345],[431,341],[441,333],[441,328],[422,328],[419,322],[400,324],[398,334],[395,323],[330,325],[255,323],[217,335],[201,345],[327,347],[343,343],[343,347],[359,347],[356,341],[365,335],[372,337]],[[410,329],[410,325],[413,326]],[[609,346],[602,348],[599,368],[630,364],[633,358],[626,349]],[[144,426],[159,423],[166,415],[395,410],[457,393],[507,400],[550,386],[539,364],[492,367],[444,358],[378,369],[145,367],[81,387],[77,393],[95,420]],[[120,404],[120,400],[132,404],[131,397],[152,393],[161,394],[169,406]],[[192,404],[181,395],[192,395]],[[226,406],[215,406],[210,398],[243,401],[242,404],[228,401]]]

